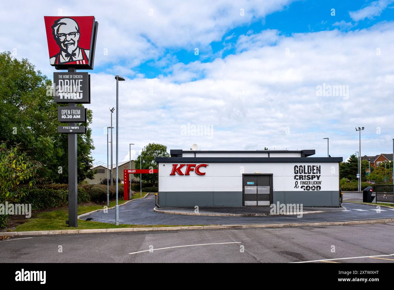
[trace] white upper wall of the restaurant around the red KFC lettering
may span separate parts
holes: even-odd
[[[190,164],[187,162],[186,164]],[[322,181],[321,191],[339,190],[339,164],[336,163],[208,163],[197,175],[194,171],[189,176],[176,174],[171,176],[173,163],[159,164],[159,192],[174,191],[242,191],[242,174],[273,174],[273,191],[303,191],[301,181],[295,180],[295,165],[319,165],[321,168],[319,180]],[[178,163],[180,164],[180,163]],[[196,163],[201,164],[201,163]],[[184,173],[186,166],[181,171]],[[303,174],[302,174],[303,175]],[[309,174],[311,175],[311,174]],[[298,188],[295,188],[298,181]],[[305,186],[305,185],[304,185]]]

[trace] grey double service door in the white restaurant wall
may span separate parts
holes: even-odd
[[[271,175],[243,175],[243,205],[269,206],[271,204]]]

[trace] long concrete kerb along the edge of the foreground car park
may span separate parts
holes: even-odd
[[[112,232],[144,232],[144,231],[164,231],[164,230],[213,230],[229,228],[278,228],[290,226],[335,226],[335,225],[363,225],[375,223],[393,223],[394,219],[374,219],[364,221],[338,221],[319,223],[278,223],[278,224],[251,224],[251,225],[207,225],[207,226],[164,226],[151,228],[97,228],[84,230],[41,230],[29,232],[1,232],[0,236],[45,236],[59,234],[92,234],[92,233],[112,233]]]

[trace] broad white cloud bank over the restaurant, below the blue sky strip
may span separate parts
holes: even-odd
[[[256,45],[260,36],[255,35],[249,43],[243,39],[242,46],[250,49],[240,54],[178,64],[170,77],[122,82],[120,156],[126,155],[130,142],[136,148],[156,142],[186,150],[193,143],[201,150],[316,149],[324,156],[324,137],[330,138],[331,156],[349,156],[358,151],[358,126],[366,128],[362,155],[382,148],[390,152],[393,32],[390,22],[354,32],[294,34],[262,47]],[[204,77],[173,82],[187,79],[187,73]],[[110,118],[107,107],[114,103],[115,80],[104,73],[91,79],[93,132],[100,132]],[[318,97],[316,86],[323,83],[349,86],[349,98]],[[213,134],[182,135],[181,126],[188,123],[211,125]],[[104,135],[95,136],[97,159],[105,152],[100,148],[103,141]]]

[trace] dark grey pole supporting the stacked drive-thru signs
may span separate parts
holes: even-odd
[[[75,67],[69,67],[69,73],[76,72]],[[69,107],[76,107],[76,103],[68,103]],[[69,126],[76,126],[76,122],[69,122]],[[78,176],[77,176],[77,134],[67,134],[69,138],[69,226],[78,226]]]

